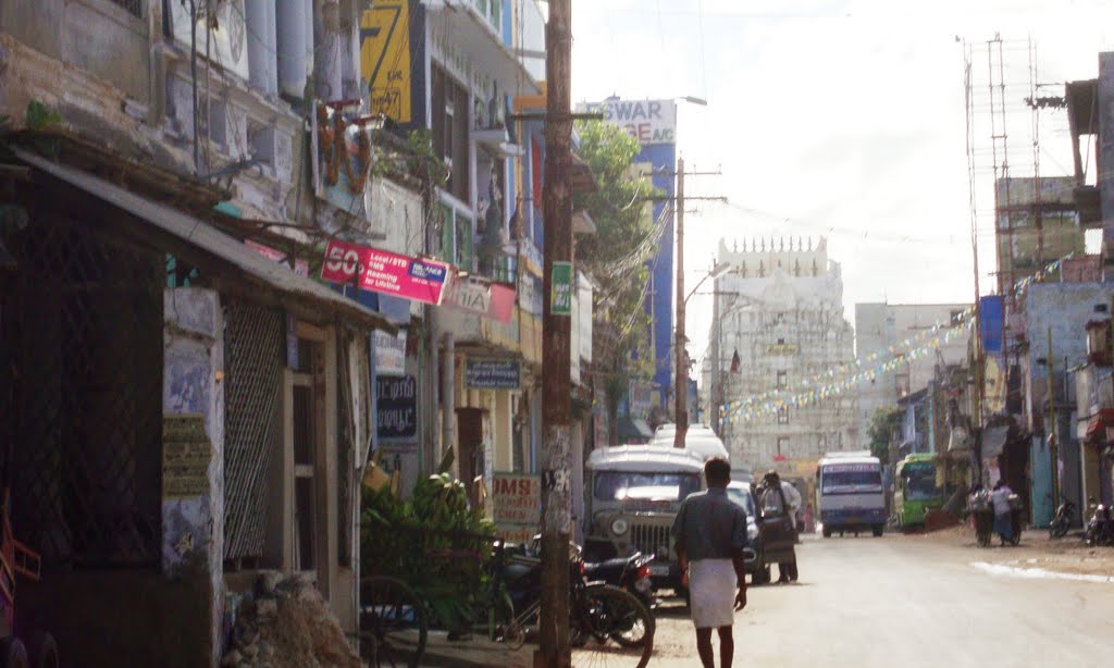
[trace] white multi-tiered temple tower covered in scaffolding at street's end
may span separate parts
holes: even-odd
[[[861,445],[853,394],[793,401],[853,360],[840,266],[827,240],[758,239],[731,249],[721,240],[717,262],[731,269],[715,282],[706,384],[733,465],[807,470],[825,452]],[[760,395],[766,399],[745,407]],[[771,410],[778,401],[785,405]]]

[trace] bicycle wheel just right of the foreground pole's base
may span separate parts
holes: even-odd
[[[583,609],[576,609],[583,606]],[[586,642],[573,652],[574,665],[644,668],[654,652],[654,617],[634,595],[596,584],[574,606],[574,625]]]

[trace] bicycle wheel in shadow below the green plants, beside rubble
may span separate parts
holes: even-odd
[[[373,668],[417,668],[426,652],[426,608],[401,580],[360,581],[360,652]]]

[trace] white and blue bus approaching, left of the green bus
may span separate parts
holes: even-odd
[[[817,464],[817,511],[824,538],[886,527],[882,465],[870,451],[829,452]]]

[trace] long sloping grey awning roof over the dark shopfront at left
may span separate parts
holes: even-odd
[[[397,332],[382,315],[330,289],[328,286],[295,274],[286,265],[260,255],[238,239],[231,237],[204,220],[173,207],[152,202],[140,195],[116,186],[80,169],[53,163],[23,149],[13,149],[20,160],[107,204],[123,209],[160,232],[198,248],[204,254],[240,269],[250,281],[299,302],[311,310],[325,308],[349,317],[354,324],[387,332]]]

